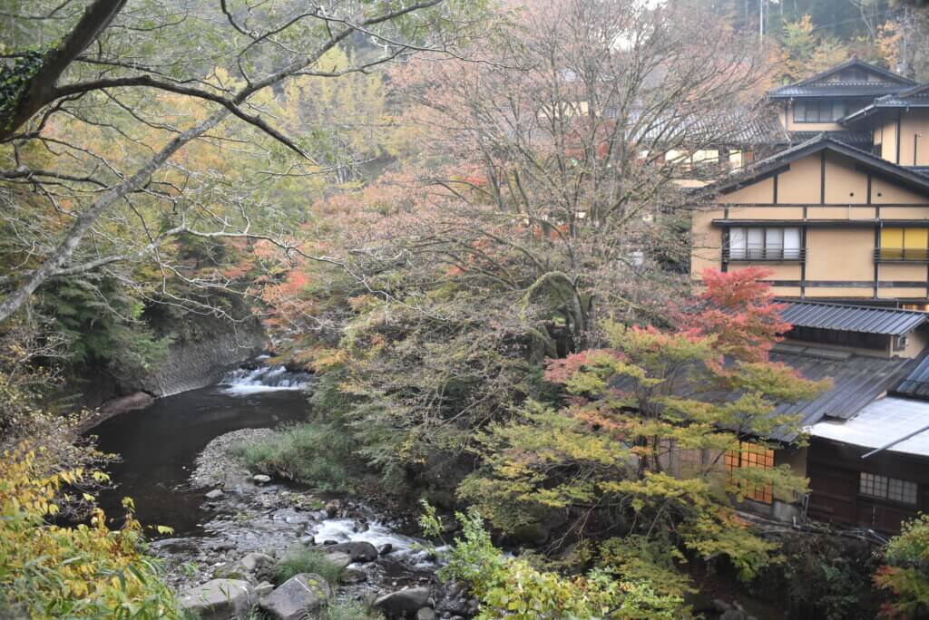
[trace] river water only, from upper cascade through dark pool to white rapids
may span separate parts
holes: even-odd
[[[109,468],[117,488],[103,493],[100,504],[115,517],[123,512],[122,497],[132,497],[141,523],[174,529],[173,538],[161,541],[163,549],[183,549],[186,545],[189,550],[191,545],[200,544],[198,536],[226,538],[246,546],[259,545],[260,541],[273,547],[281,537],[293,541],[291,526],[305,521],[307,513],[277,510],[239,523],[228,510],[204,506],[204,489],[190,485],[190,473],[203,448],[219,435],[305,420],[306,388],[311,381],[307,373],[290,372],[281,366],[240,368],[216,386],[168,396],[150,407],[101,422],[91,433],[98,436],[100,449],[119,455],[121,460]],[[416,549],[421,541],[399,534],[373,510],[362,511],[361,521],[323,518],[307,534],[320,542],[389,544],[396,549],[392,561],[403,570],[432,566],[425,552]]]

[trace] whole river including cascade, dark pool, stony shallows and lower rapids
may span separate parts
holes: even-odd
[[[311,489],[281,481],[251,484],[247,474],[242,479],[241,466],[232,465],[222,471],[243,480],[243,490],[238,484],[235,490],[214,484],[225,492],[210,500],[204,497],[207,488],[191,484],[197,457],[217,437],[306,420],[311,382],[309,375],[282,367],[240,369],[220,385],[162,398],[91,430],[100,449],[121,458],[109,467],[116,488],[100,496],[112,525],[124,513],[122,498],[132,497],[141,523],[173,528],[169,536],[146,530],[153,538],[150,550],[166,562],[172,586],[186,589],[226,576],[248,553],[280,558],[294,545],[353,542],[386,550],[374,562],[352,563],[355,582],[341,585],[339,597],[360,599],[418,585],[442,591],[433,558],[420,549],[425,541],[357,498],[327,497],[339,509],[320,510],[321,500]],[[301,503],[307,497],[315,499],[310,507]],[[460,597],[450,601],[462,612],[469,604]]]

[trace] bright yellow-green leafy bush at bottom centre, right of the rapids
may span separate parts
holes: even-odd
[[[622,581],[601,569],[586,575],[562,576],[539,570],[529,562],[506,557],[494,548],[477,510],[459,514],[462,537],[446,554],[439,571],[443,579],[469,584],[481,602],[478,620],[543,618],[685,618],[683,599],[660,596],[646,582]],[[440,536],[441,522],[425,505],[423,528]]]

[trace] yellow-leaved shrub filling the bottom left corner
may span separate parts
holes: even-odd
[[[11,617],[174,618],[177,607],[159,565],[142,553],[141,525],[130,513],[110,530],[99,508],[89,524],[50,525],[63,484],[101,477],[77,469],[46,475],[20,447],[0,462],[0,610]],[[91,499],[87,497],[88,501]],[[0,611],[0,614],[3,612]]]

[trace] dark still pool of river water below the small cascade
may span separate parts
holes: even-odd
[[[102,494],[100,504],[115,518],[123,513],[122,497],[132,497],[142,523],[189,534],[206,516],[200,508],[203,490],[187,488],[193,460],[203,447],[230,431],[273,427],[306,415],[307,394],[300,390],[229,394],[211,387],[105,420],[90,434],[98,436],[101,450],[123,460],[110,466],[118,486]]]

